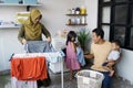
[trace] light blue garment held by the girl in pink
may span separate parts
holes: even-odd
[[[76,56],[78,56],[78,62],[80,63],[80,65],[84,66],[85,59],[84,59],[83,51],[81,47],[76,47]]]

